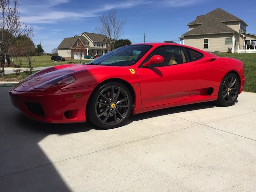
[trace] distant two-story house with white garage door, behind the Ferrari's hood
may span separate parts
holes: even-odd
[[[111,51],[110,44],[104,35],[96,33],[83,32],[80,36],[64,38],[58,46],[58,54],[66,59],[77,59],[76,53],[72,50],[77,46],[84,46],[83,55],[104,55]]]

